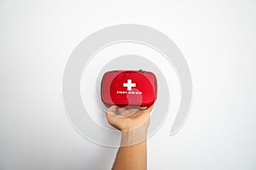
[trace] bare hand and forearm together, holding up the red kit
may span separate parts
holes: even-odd
[[[154,105],[141,110],[136,107],[118,108],[113,105],[106,111],[108,123],[122,133],[113,170],[147,169],[147,132],[153,107]]]

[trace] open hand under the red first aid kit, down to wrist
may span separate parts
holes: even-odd
[[[119,108],[113,105],[106,111],[108,123],[116,127],[120,131],[128,131],[137,127],[143,127],[145,131],[148,130],[150,111],[154,105],[147,109],[139,109],[138,107]],[[116,115],[118,111],[118,115]]]

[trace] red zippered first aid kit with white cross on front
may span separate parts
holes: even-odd
[[[157,98],[157,80],[150,71],[108,71],[102,77],[101,95],[107,107],[148,107]]]

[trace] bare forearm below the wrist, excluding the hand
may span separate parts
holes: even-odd
[[[139,143],[137,143],[139,142]],[[137,143],[137,144],[134,144]],[[132,144],[132,145],[131,145]],[[113,170],[147,169],[146,133],[122,133],[121,146],[113,164]]]

